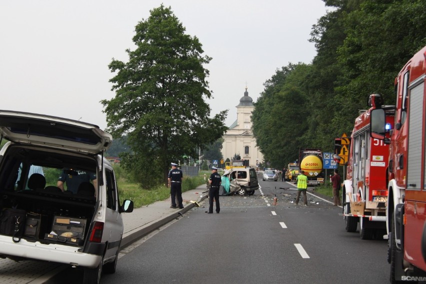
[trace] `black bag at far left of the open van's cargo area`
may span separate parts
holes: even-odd
[[[25,224],[25,210],[7,208],[0,217],[0,234],[11,235],[14,242],[19,242]]]

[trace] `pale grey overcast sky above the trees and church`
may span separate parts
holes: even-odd
[[[161,3],[212,57],[211,113],[253,101],[289,62],[310,63],[322,0],[7,0],[0,2],[0,109],[80,119],[106,127],[101,99],[114,96],[112,57],[127,61],[138,21]]]

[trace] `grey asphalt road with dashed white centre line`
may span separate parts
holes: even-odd
[[[294,205],[295,190],[277,190],[273,205],[272,184],[284,183],[260,183],[266,198],[221,196],[220,214],[192,210],[124,251],[102,283],[388,283],[385,240],[345,232],[341,208],[319,198]]]

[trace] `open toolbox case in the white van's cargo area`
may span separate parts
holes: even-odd
[[[68,244],[81,245],[84,242],[86,219],[54,216],[50,233],[44,239]]]

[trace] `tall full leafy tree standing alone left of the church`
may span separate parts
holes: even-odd
[[[128,135],[132,152],[122,164],[134,171],[142,186],[165,181],[170,161],[194,149],[204,148],[226,131],[227,111],[210,118],[211,98],[203,67],[211,58],[196,36],[185,27],[170,7],[162,4],[135,26],[134,50],[126,49],[128,61],[112,59],[109,80],[115,97],[102,100],[108,131],[114,137]],[[162,172],[155,174],[155,172]]]

